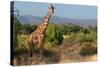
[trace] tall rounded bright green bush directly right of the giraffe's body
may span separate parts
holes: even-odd
[[[51,44],[52,46],[59,45],[63,41],[63,36],[59,31],[58,27],[54,23],[50,23],[46,29],[45,43]]]

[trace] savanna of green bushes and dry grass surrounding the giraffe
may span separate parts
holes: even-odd
[[[14,17],[13,49],[15,65],[34,64],[35,60],[28,59],[28,56],[24,53],[27,54],[29,49],[29,34],[36,28],[37,25],[21,24]],[[92,61],[90,57],[97,54],[97,27],[89,26],[85,28],[69,23],[55,24],[50,22],[46,29],[44,48],[44,59],[39,64]]]

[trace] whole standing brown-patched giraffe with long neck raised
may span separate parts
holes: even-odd
[[[32,57],[32,47],[38,46],[40,52],[40,59],[43,54],[44,49],[44,38],[45,38],[45,31],[49,24],[50,17],[54,14],[54,6],[51,4],[48,7],[48,13],[42,20],[42,22],[37,26],[37,29],[32,32],[29,36],[29,56]]]

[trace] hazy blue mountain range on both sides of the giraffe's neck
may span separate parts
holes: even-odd
[[[39,24],[42,20],[43,17],[37,17],[37,16],[31,16],[31,15],[24,15],[24,16],[19,16],[17,17],[21,23],[29,23],[29,24]],[[93,19],[73,19],[73,18],[63,18],[63,17],[58,17],[58,16],[53,16],[50,19],[50,22],[54,22],[57,24],[60,23],[72,23],[75,25],[80,25],[80,26],[96,26],[97,25],[97,20]]]

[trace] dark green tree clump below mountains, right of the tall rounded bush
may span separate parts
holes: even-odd
[[[70,35],[71,33],[78,33],[78,32],[87,32],[87,29],[84,30],[83,27],[78,26],[78,25],[74,25],[74,24],[60,24],[59,26],[59,30],[62,32],[63,35]]]

